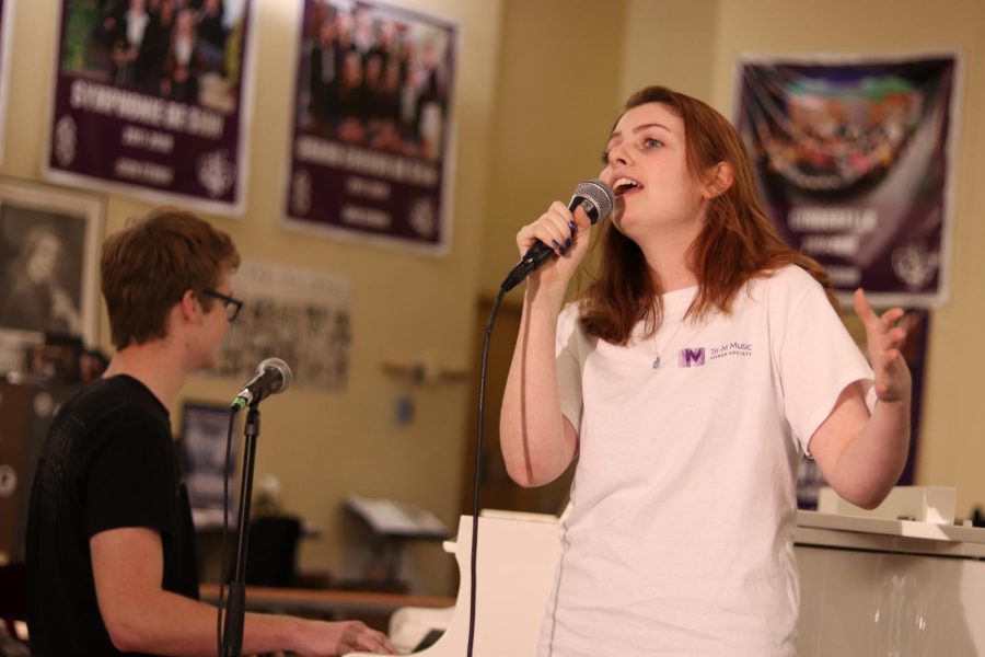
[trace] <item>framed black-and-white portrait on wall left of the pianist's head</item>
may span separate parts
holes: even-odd
[[[0,371],[45,334],[95,346],[99,196],[0,178]]]

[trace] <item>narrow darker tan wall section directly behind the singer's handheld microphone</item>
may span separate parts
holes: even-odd
[[[600,155],[619,106],[623,8],[618,0],[505,3],[483,293],[495,296],[519,260],[520,227],[553,200],[567,203],[578,183],[602,170]],[[517,287],[507,302],[519,303],[522,290]]]

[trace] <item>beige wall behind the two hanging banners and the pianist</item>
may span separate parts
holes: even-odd
[[[37,178],[45,131],[55,49],[55,0],[16,3],[7,122],[4,176]],[[457,525],[457,489],[466,413],[466,383],[410,389],[385,374],[384,360],[429,357],[439,364],[467,365],[472,348],[477,252],[489,176],[491,81],[497,77],[499,0],[409,0],[401,4],[455,21],[461,26],[454,173],[454,229],[448,257],[429,257],[327,238],[288,232],[281,216],[282,172],[287,164],[290,99],[301,2],[259,0],[257,84],[253,102],[252,157],[246,214],[240,219],[212,218],[236,241],[243,257],[337,275],[351,283],[354,343],[345,392],[293,388],[264,404],[256,477],[278,475],[285,506],[323,530],[304,541],[301,565],[336,575],[359,565],[362,555],[346,553],[359,537],[343,521],[347,493],[385,496],[433,510]],[[107,231],[147,204],[111,195]],[[105,316],[101,343],[108,351]],[[194,377],[186,395],[227,402],[243,381]],[[398,394],[410,392],[415,420],[394,422]],[[178,407],[172,411],[179,420]],[[437,543],[416,546],[406,557],[407,572],[421,592],[453,590],[447,555]],[[355,574],[355,570],[352,572]]]

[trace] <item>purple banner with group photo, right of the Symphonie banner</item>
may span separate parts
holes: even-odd
[[[448,252],[457,27],[361,0],[305,0],[285,223]]]

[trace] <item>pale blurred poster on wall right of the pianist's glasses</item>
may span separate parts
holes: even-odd
[[[348,280],[246,262],[232,286],[243,308],[209,376],[248,381],[262,360],[276,357],[291,368],[293,385],[345,390],[352,342]]]

